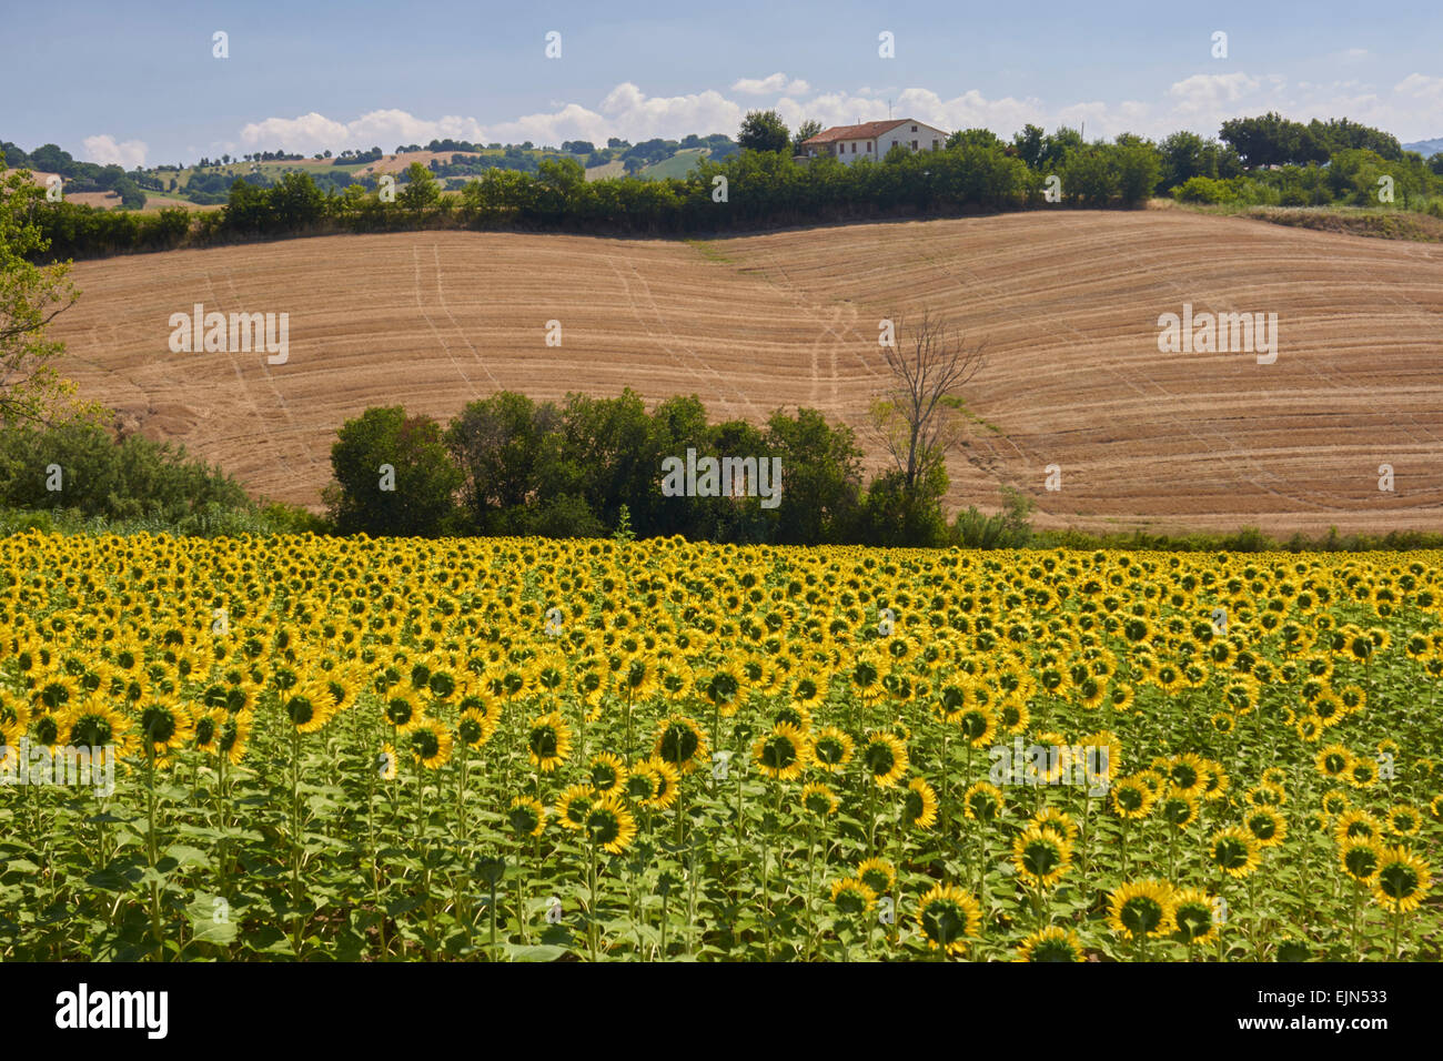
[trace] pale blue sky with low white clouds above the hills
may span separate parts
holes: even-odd
[[[1026,123],[1215,136],[1270,110],[1443,137],[1437,0],[66,0],[12,6],[6,36],[0,140],[127,167],[736,136],[749,110],[825,127],[886,118],[889,101],[893,117],[1003,137]]]

